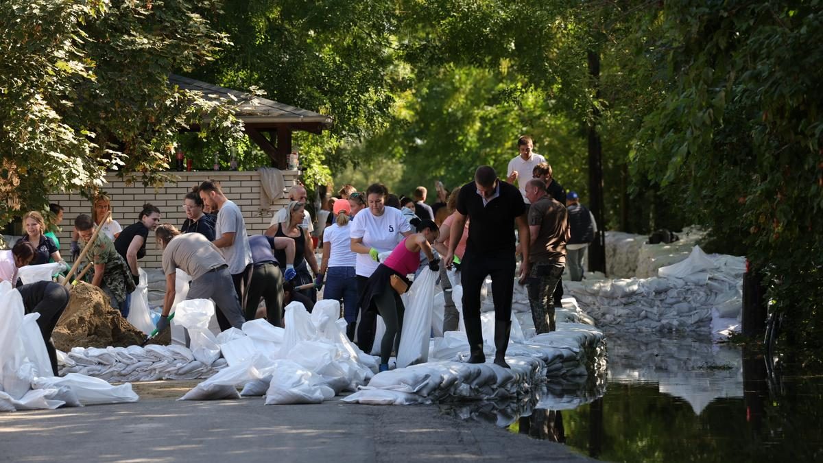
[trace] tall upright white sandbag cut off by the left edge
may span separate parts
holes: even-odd
[[[20,399],[30,389],[34,366],[26,358],[20,339],[23,325],[23,298],[12,284],[0,282],[0,390]],[[38,334],[42,339],[42,336]]]

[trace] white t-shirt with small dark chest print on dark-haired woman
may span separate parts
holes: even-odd
[[[412,226],[398,209],[386,207],[383,209],[383,215],[379,217],[375,217],[370,209],[361,211],[351,222],[349,230],[351,238],[363,238],[365,247],[385,252],[398,246],[403,237],[401,233],[411,232]],[[378,265],[379,263],[374,262],[370,255],[358,254],[355,273],[370,277]]]

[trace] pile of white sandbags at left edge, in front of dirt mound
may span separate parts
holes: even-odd
[[[91,376],[52,376],[37,318],[24,316],[23,300],[8,282],[0,283],[0,411],[137,401],[130,384],[111,386]]]

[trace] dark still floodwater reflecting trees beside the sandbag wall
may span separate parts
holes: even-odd
[[[605,378],[441,408],[603,461],[823,461],[823,377],[770,375],[764,358],[710,339],[607,343]]]

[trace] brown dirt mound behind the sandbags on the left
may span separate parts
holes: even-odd
[[[74,347],[128,347],[140,345],[146,335],[109,306],[109,297],[100,288],[78,282],[57,328],[52,333],[54,347],[68,352]]]

